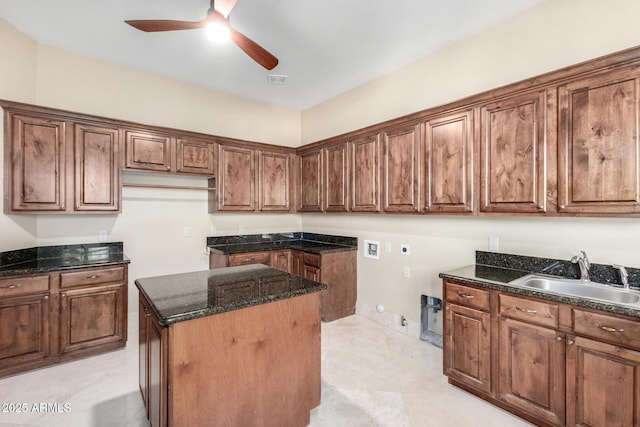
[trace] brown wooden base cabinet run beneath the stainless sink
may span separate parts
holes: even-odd
[[[449,280],[444,295],[449,383],[540,426],[640,427],[638,319]]]

